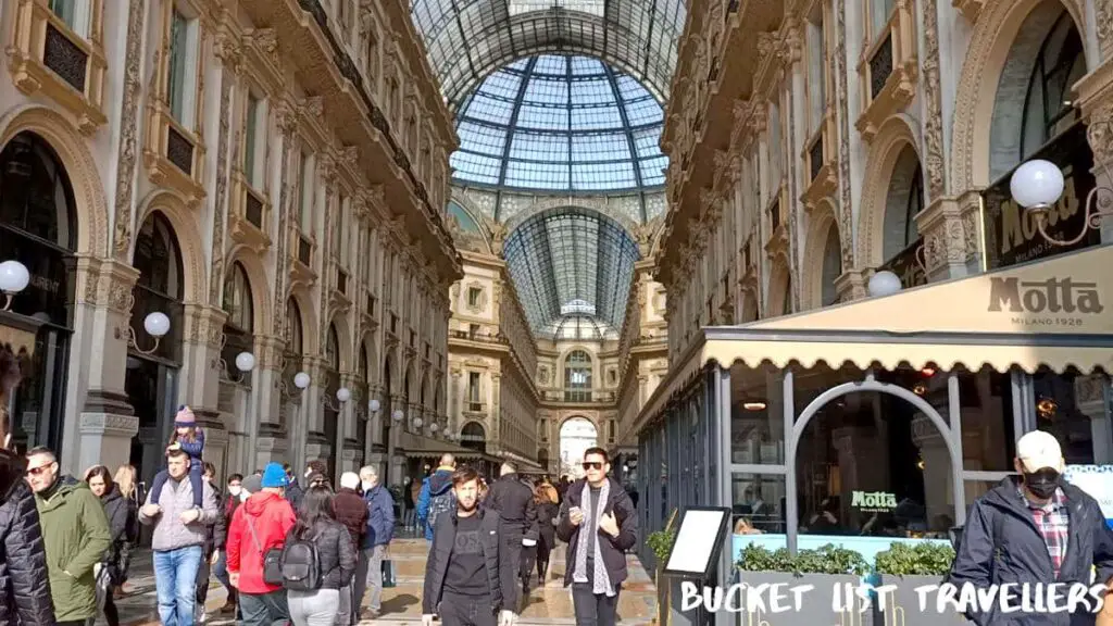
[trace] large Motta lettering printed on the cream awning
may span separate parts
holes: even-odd
[[[1071,278],[989,280],[989,311],[1012,313],[1101,313],[1105,310],[1097,283]]]

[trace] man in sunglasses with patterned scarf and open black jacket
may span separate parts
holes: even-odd
[[[578,625],[614,626],[626,551],[638,542],[638,516],[626,489],[607,476],[607,450],[588,448],[583,470],[587,478],[569,486],[556,525],[556,536],[568,544],[564,586],[572,585]]]

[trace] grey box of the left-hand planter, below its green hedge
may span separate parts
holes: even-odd
[[[840,594],[845,597],[847,585],[857,588],[861,585],[861,578],[849,574],[790,574],[781,571],[742,571],[741,583],[749,587],[768,585],[760,594],[765,604],[765,610],[760,607],[748,606],[746,590],[741,594],[731,594],[729,601],[733,606],[725,607],[738,610],[735,624],[739,626],[781,626],[796,624],[814,624],[837,626],[874,626],[874,614],[870,610],[855,610],[843,613],[835,612],[833,605],[834,595]],[[779,585],[779,587],[774,587]],[[812,588],[806,593],[795,594],[794,588],[810,585]],[[777,608],[785,610],[775,613],[772,597],[777,598]],[[799,608],[797,608],[797,597],[799,597]],[[673,598],[676,600],[676,598]],[[725,601],[727,599],[725,598]],[[855,601],[858,603],[857,598]],[[676,604],[676,601],[673,601]]]

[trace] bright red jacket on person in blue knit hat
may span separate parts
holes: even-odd
[[[286,532],[294,526],[294,509],[277,493],[259,491],[236,509],[228,528],[228,571],[239,573],[239,590],[245,594],[269,594],[280,586],[263,581],[263,555],[286,542]],[[258,536],[255,545],[250,525]]]

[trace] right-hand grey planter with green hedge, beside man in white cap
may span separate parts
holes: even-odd
[[[896,589],[885,591],[885,610],[880,603],[874,603],[877,626],[916,626],[966,624],[958,613],[938,613],[935,601],[928,596],[925,610],[919,609],[917,587],[943,584],[955,560],[955,550],[946,544],[924,541],[915,546],[893,544],[888,550],[877,552],[876,571],[879,586],[896,585]]]

